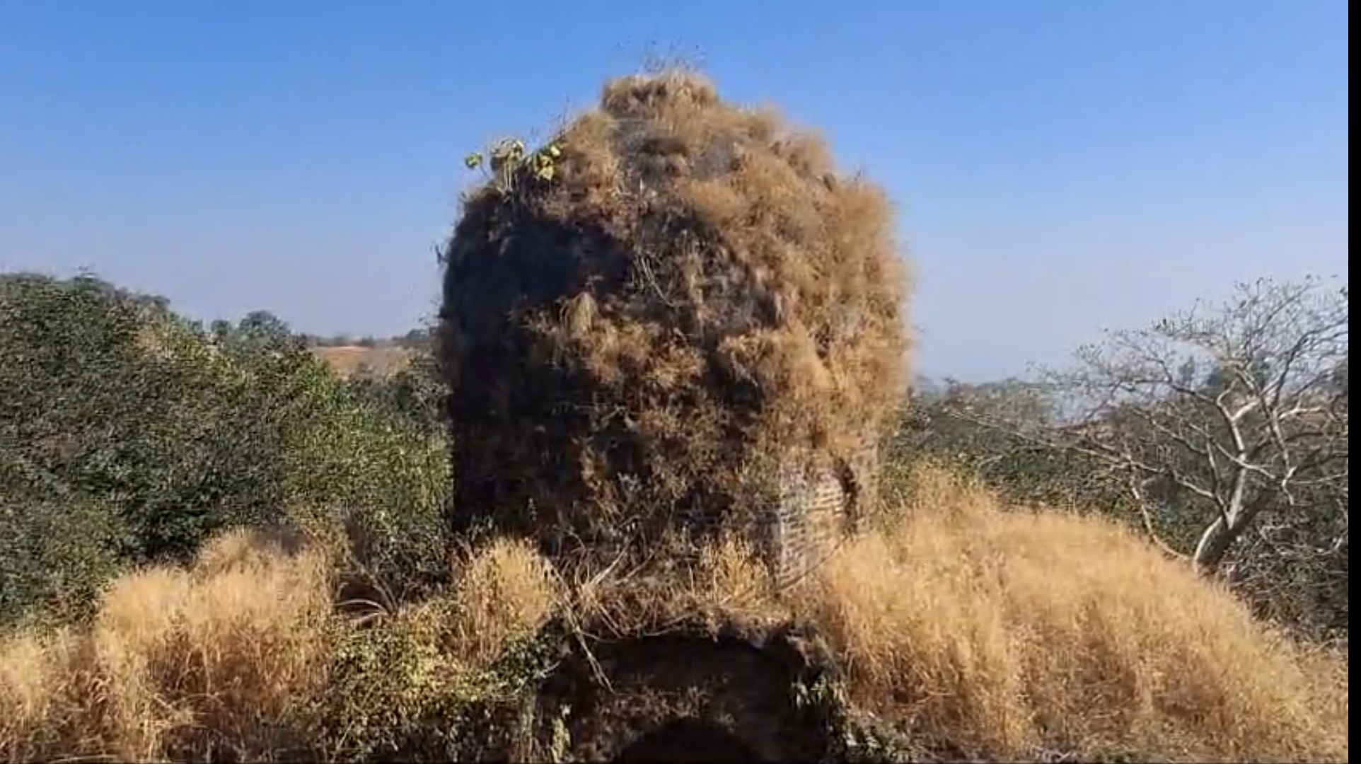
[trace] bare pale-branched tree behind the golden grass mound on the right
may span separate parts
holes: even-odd
[[[1328,546],[1345,549],[1347,297],[1345,283],[1262,279],[1237,285],[1224,304],[1108,332],[1072,368],[1043,372],[1067,394],[1072,419],[1029,437],[1094,456],[1154,538],[1151,513],[1199,509],[1188,556],[1206,573],[1264,519],[1320,503],[1337,520]],[[1021,432],[968,409],[960,415]]]

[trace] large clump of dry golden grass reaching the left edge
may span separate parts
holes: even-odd
[[[331,624],[327,560],[233,532],[191,571],[124,576],[83,631],[0,652],[0,759],[282,759],[314,734]]]

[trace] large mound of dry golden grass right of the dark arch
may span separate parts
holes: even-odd
[[[983,757],[1347,759],[1345,666],[1115,524],[915,483],[808,592],[859,703]]]

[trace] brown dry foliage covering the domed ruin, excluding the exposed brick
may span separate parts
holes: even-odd
[[[911,350],[883,191],[686,72],[607,83],[554,143],[551,180],[471,193],[444,252],[456,531],[612,557],[878,436]]]

